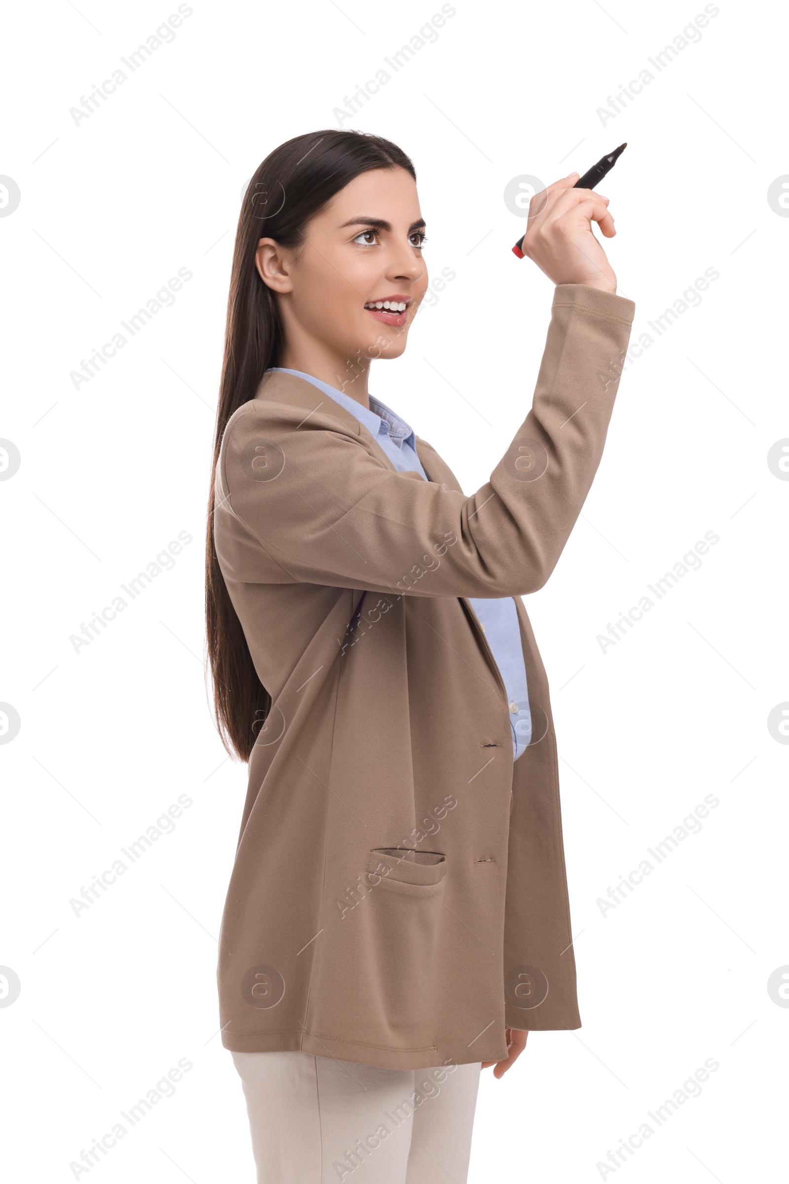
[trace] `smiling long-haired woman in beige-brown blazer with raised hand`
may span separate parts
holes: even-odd
[[[591,231],[614,234],[608,199],[576,179],[532,201],[545,353],[470,497],[368,391],[428,282],[410,160],[316,131],[244,199],[207,628],[219,727],[250,764],[218,978],[259,1182],[463,1182],[480,1066],[502,1076],[530,1029],[580,1027],[520,596],[591,484],[634,305]]]

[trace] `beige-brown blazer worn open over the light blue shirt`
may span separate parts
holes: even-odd
[[[589,491],[634,310],[556,288],[532,408],[471,496],[419,437],[429,481],[397,472],[290,374],[229,420],[216,549],[273,706],[221,924],[226,1048],[423,1068],[505,1057],[505,1027],[580,1027],[548,680],[519,597]],[[468,604],[502,596],[533,727],[515,762]]]

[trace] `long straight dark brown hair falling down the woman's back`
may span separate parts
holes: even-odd
[[[206,533],[206,633],[216,727],[231,755],[248,760],[271,695],[256,673],[241,623],[233,609],[214,545],[216,462],[227,422],[254,398],[266,369],[279,365],[283,327],[273,291],[254,257],[260,238],[303,249],[303,229],[349,181],[371,168],[405,168],[409,157],[396,144],[362,131],[310,131],[274,148],[252,176],[239,217],[233,251],[225,355],[216,407]]]

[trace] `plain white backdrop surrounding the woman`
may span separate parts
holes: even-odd
[[[13,1180],[73,1179],[70,1163],[179,1058],[193,1068],[174,1096],[79,1178],[253,1179],[215,996],[246,768],[226,758],[202,673],[233,236],[260,160],[336,127],[344,96],[440,5],[195,0],[172,44],[76,124],[70,108],[175,7],[50,0],[7,18],[0,173],[21,192],[0,218],[0,437],[21,455],[0,482],[0,700],[21,719],[0,746],[0,964],[21,982],[0,1009]],[[789,963],[789,748],[767,719],[789,700],[789,482],[767,455],[789,437],[789,219],[767,191],[789,173],[785,12],[722,2],[658,73],[647,58],[704,5],[455,7],[343,122],[413,157],[428,266],[457,274],[406,354],[376,363],[373,392],[466,491],[486,480],[530,405],[552,295],[510,252],[524,223],[504,188],[584,172],[622,141],[600,186],[617,227],[606,249],[636,302],[632,341],[654,339],[626,367],[556,572],[526,598],[561,753],[583,1027],[533,1034],[502,1081],[483,1074],[470,1180],[771,1179],[785,1159],[789,1010],[767,984]],[[601,118],[645,67],[644,92]],[[70,372],[179,268],[193,278],[173,307],[75,390]],[[657,336],[647,322],[707,268],[719,278],[701,303]],[[173,570],[76,652],[71,635],[179,532],[193,541]],[[705,532],[719,541],[703,566],[603,652],[597,635]],[[70,900],[180,794],[192,805],[174,831],[75,915]],[[599,899],[707,794],[700,831],[603,914]],[[658,1127],[647,1112],[706,1058],[719,1068],[700,1096]],[[654,1134],[610,1170],[608,1150],[645,1121]]]

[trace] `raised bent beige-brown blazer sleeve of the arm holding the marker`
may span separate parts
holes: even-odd
[[[471,496],[384,468],[338,419],[245,404],[218,481],[233,577],[395,596],[537,591],[597,470],[634,313],[621,296],[556,287],[531,410]],[[251,556],[260,547],[265,564]]]

